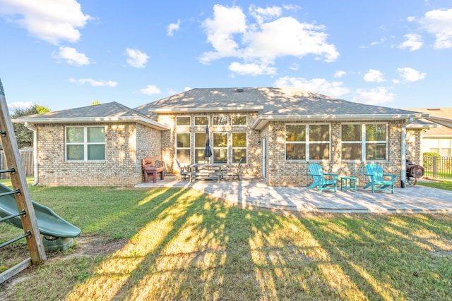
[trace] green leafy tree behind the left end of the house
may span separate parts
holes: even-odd
[[[18,118],[23,116],[42,114],[49,112],[50,109],[46,106],[42,106],[40,104],[33,104],[29,108],[26,109],[16,109],[14,113],[11,115],[11,118]],[[33,146],[33,132],[32,130],[28,130],[25,125],[21,123],[13,123],[14,135],[16,135],[17,146],[19,149],[23,147],[32,147]]]

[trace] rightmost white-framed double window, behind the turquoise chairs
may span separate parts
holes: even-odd
[[[345,160],[386,160],[388,135],[386,124],[343,124],[342,158]]]

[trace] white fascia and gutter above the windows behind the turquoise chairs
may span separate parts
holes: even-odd
[[[423,118],[422,113],[415,114],[347,114],[347,115],[261,115],[251,125],[253,130],[260,130],[269,121],[387,121],[387,120],[403,120],[408,118]]]

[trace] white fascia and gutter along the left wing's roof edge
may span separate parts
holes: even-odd
[[[112,122],[136,122],[150,126],[156,130],[169,130],[169,125],[157,123],[144,117],[81,117],[81,118],[19,118],[11,120],[14,123],[112,123]]]

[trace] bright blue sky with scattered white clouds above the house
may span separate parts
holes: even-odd
[[[12,111],[287,85],[393,108],[451,106],[450,0],[0,0],[0,37]]]

